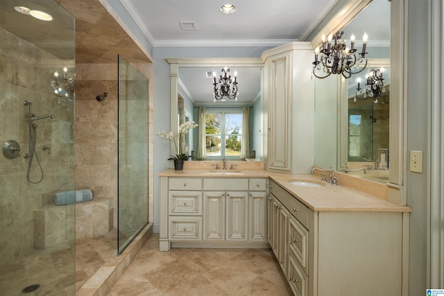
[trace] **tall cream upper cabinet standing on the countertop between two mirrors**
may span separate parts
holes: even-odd
[[[312,58],[309,42],[262,53],[268,170],[307,173],[314,164],[314,82],[307,62]]]

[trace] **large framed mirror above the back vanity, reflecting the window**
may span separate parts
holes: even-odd
[[[263,64],[259,59],[167,59],[171,69],[171,126],[187,121],[198,128],[180,137],[180,147],[192,160],[262,160]],[[213,72],[237,74],[239,96],[214,99]],[[177,85],[177,87],[173,87]],[[174,93],[174,94],[173,94]],[[171,111],[171,115],[173,115]],[[175,121],[175,122],[173,122]]]

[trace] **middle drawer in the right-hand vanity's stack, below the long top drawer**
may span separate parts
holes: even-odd
[[[298,219],[289,218],[289,250],[298,261],[305,273],[308,274],[308,231]]]

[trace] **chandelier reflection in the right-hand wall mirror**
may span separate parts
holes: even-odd
[[[382,72],[384,68],[381,69],[371,69],[366,75],[366,86],[361,89],[361,80],[358,78],[358,87],[356,89],[355,98],[353,101],[356,102],[357,99],[366,100],[367,98],[373,98],[373,102],[377,103],[377,98],[381,97],[383,92],[386,92],[384,87],[384,78],[382,78]],[[360,96],[364,94],[364,96]]]

